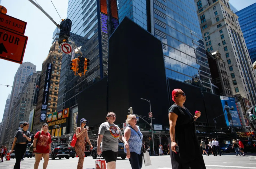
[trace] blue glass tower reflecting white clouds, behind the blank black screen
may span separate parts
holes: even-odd
[[[211,92],[211,75],[193,0],[118,0],[125,16],[162,41],[166,77]]]

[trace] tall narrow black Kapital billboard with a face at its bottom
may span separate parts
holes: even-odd
[[[42,108],[40,113],[40,122],[45,122],[46,120],[49,88],[50,88],[50,81],[51,81],[51,70],[52,70],[52,64],[48,63],[46,68],[46,73],[45,73],[45,85],[43,86],[43,100],[42,100]]]

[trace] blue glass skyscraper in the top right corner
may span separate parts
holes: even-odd
[[[256,3],[236,12],[238,21],[245,38],[245,43],[251,58],[256,61]]]

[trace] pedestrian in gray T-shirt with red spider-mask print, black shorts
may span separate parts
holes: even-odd
[[[106,122],[99,127],[97,139],[97,153],[101,154],[107,163],[107,169],[115,169],[115,162],[118,156],[118,140],[125,143],[128,148],[128,142],[123,137],[118,125],[115,125],[116,115],[109,112],[106,116]]]

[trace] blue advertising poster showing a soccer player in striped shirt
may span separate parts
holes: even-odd
[[[242,127],[237,112],[235,99],[226,96],[220,96],[220,99],[227,127]]]

